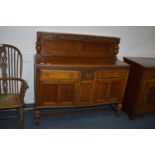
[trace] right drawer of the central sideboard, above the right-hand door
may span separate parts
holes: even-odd
[[[125,70],[104,70],[104,71],[97,71],[96,78],[103,79],[103,78],[120,78],[125,77],[127,71]]]

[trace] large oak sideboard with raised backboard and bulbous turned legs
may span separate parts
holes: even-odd
[[[42,109],[115,104],[116,115],[129,65],[118,60],[120,38],[37,32],[36,123]]]

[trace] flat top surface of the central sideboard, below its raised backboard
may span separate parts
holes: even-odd
[[[50,57],[45,55],[36,55],[36,64],[59,67],[129,67],[128,64],[115,59]]]

